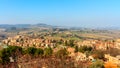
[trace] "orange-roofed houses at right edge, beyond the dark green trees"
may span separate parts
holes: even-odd
[[[91,46],[95,49],[107,50],[108,48],[117,48],[120,49],[120,40],[84,40],[82,42],[77,42],[77,45],[80,46]]]

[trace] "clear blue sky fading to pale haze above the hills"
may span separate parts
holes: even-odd
[[[0,0],[0,24],[120,26],[120,0]]]

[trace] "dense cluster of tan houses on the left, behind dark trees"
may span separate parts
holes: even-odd
[[[11,46],[21,46],[21,47],[55,47],[56,41],[52,39],[41,39],[41,38],[30,38],[27,36],[15,36],[15,37],[8,37],[2,41],[4,44],[11,45]]]

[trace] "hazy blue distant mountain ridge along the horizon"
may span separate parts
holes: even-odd
[[[31,27],[46,27],[46,28],[66,28],[66,29],[98,29],[98,30],[120,30],[119,27],[93,27],[93,28],[86,28],[86,27],[67,27],[67,26],[54,26],[54,25],[48,25],[44,23],[38,23],[38,24],[0,24],[0,28],[31,28]]]

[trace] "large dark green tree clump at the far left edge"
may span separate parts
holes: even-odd
[[[15,62],[17,57],[22,54],[22,48],[18,46],[8,46],[0,51],[0,57],[3,64],[7,64],[10,62],[9,57],[12,57]]]

